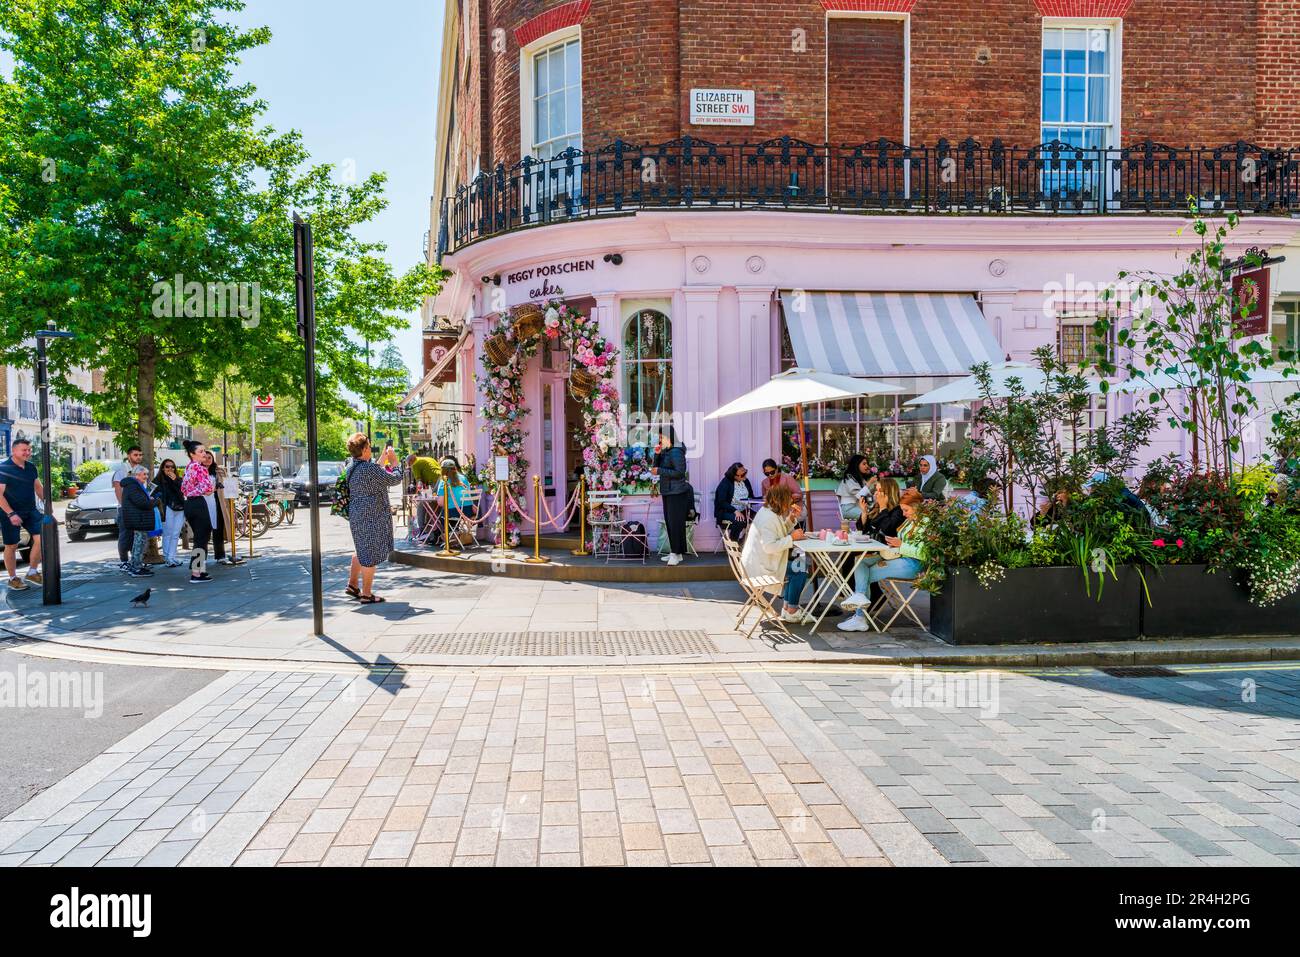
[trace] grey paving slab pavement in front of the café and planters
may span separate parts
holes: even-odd
[[[92,650],[281,664],[403,667],[474,664],[641,664],[831,662],[857,664],[1164,664],[1300,658],[1294,638],[1205,638],[1067,645],[950,646],[919,628],[846,633],[828,618],[816,633],[796,627],[745,638],[734,631],[741,593],[732,583],[618,584],[452,575],[389,564],[376,576],[382,605],[343,593],[346,524],[324,521],[325,637],[311,633],[307,520],[257,540],[257,558],[214,566],[192,585],[185,568],[129,579],[114,564],[65,550],[64,603],[39,589],[6,593],[0,628],[55,642],[69,657]],[[400,529],[398,529],[400,534]],[[152,588],[148,607],[130,598]],[[927,610],[920,603],[924,620]]]

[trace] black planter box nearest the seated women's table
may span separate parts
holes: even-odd
[[[930,631],[950,645],[1128,641],[1141,633],[1141,581],[1131,567],[1097,576],[1069,568],[1009,568],[991,588],[968,568],[952,568],[930,598]],[[1149,579],[1148,573],[1148,579]]]

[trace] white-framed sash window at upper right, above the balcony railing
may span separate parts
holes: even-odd
[[[1043,142],[1114,146],[1115,30],[1104,23],[1043,27]]]

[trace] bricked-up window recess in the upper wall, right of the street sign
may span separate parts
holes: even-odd
[[[827,31],[832,143],[902,142],[904,22],[836,18]]]

